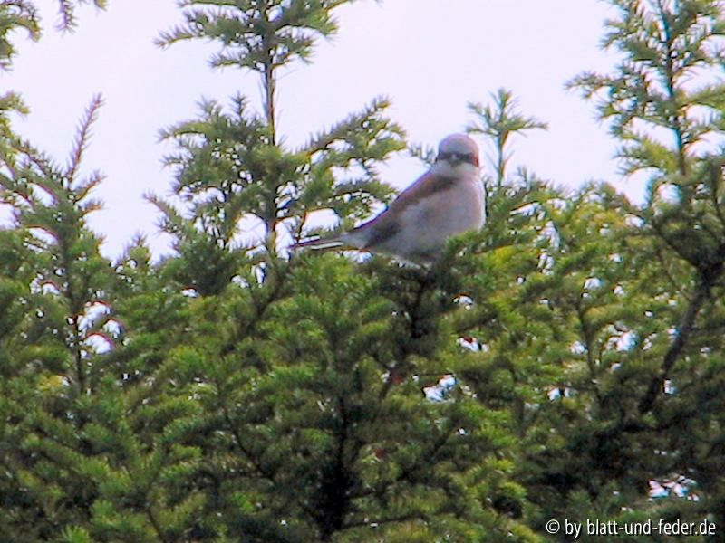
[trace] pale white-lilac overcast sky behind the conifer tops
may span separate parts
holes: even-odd
[[[62,161],[83,110],[102,93],[105,105],[85,161],[86,170],[107,176],[95,192],[104,209],[92,214],[92,228],[105,237],[102,250],[110,257],[138,232],[148,234],[155,252],[165,252],[156,210],[142,197],[169,195],[172,172],[161,157],[171,149],[159,142],[159,129],[195,117],[201,97],[227,104],[238,91],[258,107],[259,81],[246,71],[212,71],[214,43],[155,46],[161,31],[182,21],[174,0],[109,4],[105,12],[79,10],[75,33],[54,31],[56,14],[43,12],[43,39],[32,43],[15,34],[14,70],[0,77],[31,109],[15,128]],[[470,101],[486,102],[504,87],[522,112],[549,124],[548,131],[515,141],[514,166],[526,165],[557,185],[606,180],[635,199],[642,194],[616,173],[614,140],[594,119],[594,104],[564,88],[580,71],[609,71],[616,62],[599,49],[604,19],[612,15],[604,2],[362,0],[335,13],[339,33],[319,43],[312,64],[294,64],[279,81],[285,145],[294,147],[387,95],[392,119],[411,141],[435,146],[472,119]],[[404,188],[422,170],[401,156],[382,175]]]

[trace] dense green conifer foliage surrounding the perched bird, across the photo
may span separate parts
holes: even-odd
[[[142,238],[107,261],[86,224],[101,99],[65,166],[14,135],[17,96],[0,102],[0,540],[535,542],[559,540],[548,519],[660,518],[720,540],[720,3],[610,0],[622,61],[570,82],[649,178],[642,205],[510,172],[511,139],[546,123],[498,90],[469,106],[495,149],[488,222],[430,270],[285,250],[319,210],[347,227],[389,201],[376,167],[407,145],[384,98],[280,143],[277,71],[345,3],[181,3],[160,44],[218,40],[213,64],[263,97],[163,130],[160,262]],[[38,29],[30,3],[0,14],[6,65],[9,31]]]

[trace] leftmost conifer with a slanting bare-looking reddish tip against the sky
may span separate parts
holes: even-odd
[[[4,202],[14,209],[14,229],[5,232],[14,238],[6,248],[12,269],[5,281],[16,285],[19,298],[11,303],[24,306],[22,319],[8,329],[3,382],[7,437],[14,443],[4,463],[13,501],[22,504],[14,510],[19,519],[11,514],[3,531],[13,534],[20,520],[16,540],[54,537],[59,527],[83,518],[94,491],[84,472],[91,469],[84,462],[91,452],[84,430],[103,379],[101,353],[111,341],[112,276],[99,238],[85,225],[98,207],[89,193],[101,176],[82,177],[80,168],[100,105],[96,97],[66,166],[14,139],[0,176]],[[33,530],[24,530],[23,521]]]

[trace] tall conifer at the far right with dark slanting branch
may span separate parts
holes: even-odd
[[[721,135],[725,89],[707,81],[725,21],[718,2],[611,4],[604,46],[623,60],[571,85],[599,99],[623,173],[649,176],[647,198],[632,205],[590,186],[549,209],[556,244],[537,288],[564,325],[566,372],[532,434],[546,444],[538,453],[529,444],[527,488],[544,506],[542,525],[720,524],[722,405],[712,387],[722,379],[725,223],[721,149],[708,142]]]

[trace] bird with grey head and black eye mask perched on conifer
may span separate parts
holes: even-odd
[[[345,233],[295,243],[298,249],[355,249],[403,262],[435,262],[448,239],[485,222],[478,145],[466,134],[440,141],[430,169],[381,214]]]

